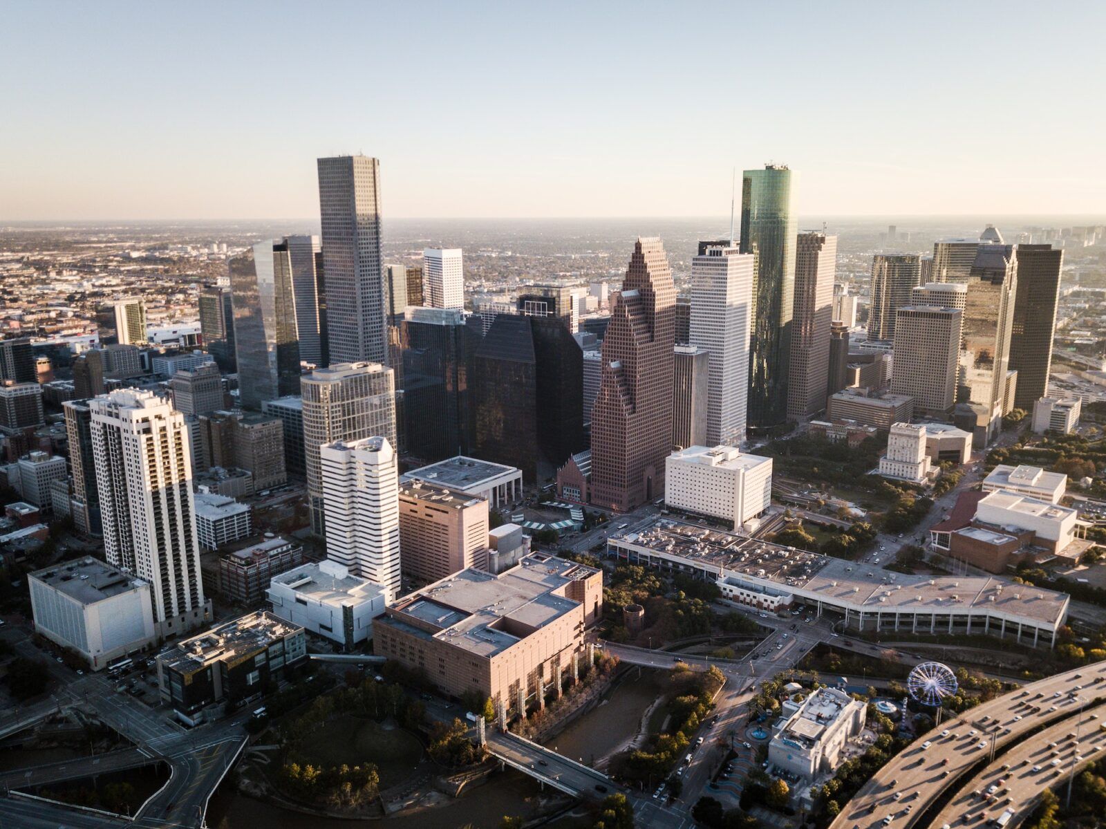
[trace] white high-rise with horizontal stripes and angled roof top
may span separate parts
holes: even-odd
[[[399,469],[379,435],[320,447],[326,509],[326,558],[399,592]]]

